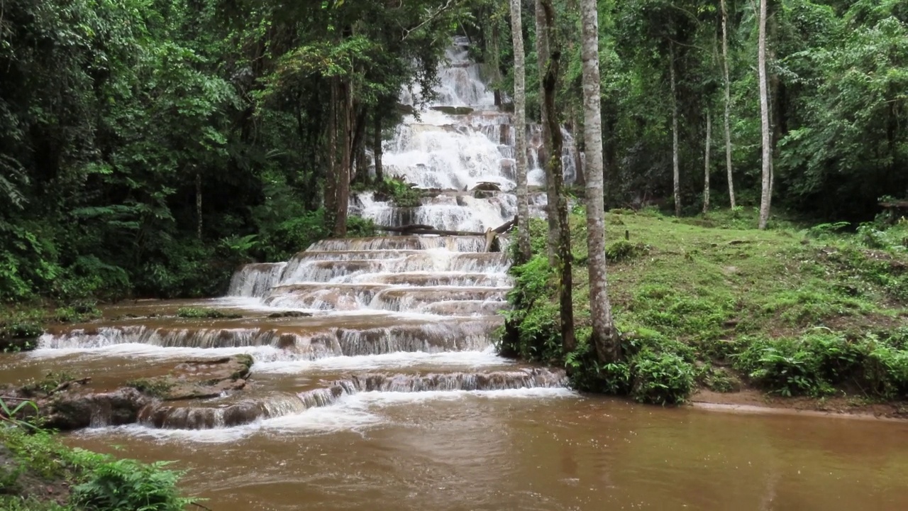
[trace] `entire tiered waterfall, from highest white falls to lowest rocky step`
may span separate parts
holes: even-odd
[[[408,117],[385,148],[390,174],[438,193],[412,209],[358,195],[361,214],[380,224],[481,231],[516,212],[510,116],[493,105],[462,44],[449,60],[438,104]],[[401,100],[412,101],[408,95]],[[462,110],[439,111],[445,105]],[[538,128],[529,135],[538,141]],[[529,151],[537,162],[537,147]],[[568,151],[564,160],[569,177],[574,157]],[[531,175],[541,185],[541,171]],[[497,186],[469,191],[479,183]],[[534,204],[544,199],[537,192]],[[507,236],[499,241],[507,247]],[[196,304],[233,307],[242,317],[180,318],[176,306],[148,302],[137,306],[139,315],[48,332],[30,356],[69,369],[109,357],[252,355],[252,386],[145,406],[137,420],[157,430],[239,427],[369,393],[564,395],[563,371],[520,367],[493,354],[512,281],[507,255],[485,252],[486,245],[484,235],[323,240],[289,261],[242,267],[228,296]]]

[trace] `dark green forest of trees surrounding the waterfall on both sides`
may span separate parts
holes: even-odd
[[[558,122],[582,150],[578,6],[551,5]],[[697,215],[710,190],[727,208],[729,176],[735,207],[759,205],[758,3],[598,7],[606,207]],[[467,35],[508,103],[509,21],[489,0],[5,1],[0,301],[212,295],[242,262],[370,234],[350,185],[381,175],[400,91],[430,90]],[[905,195],[908,6],[769,2],[767,62],[774,207],[865,221]]]

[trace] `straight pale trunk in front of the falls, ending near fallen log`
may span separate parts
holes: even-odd
[[[523,22],[520,0],[510,0],[511,35],[514,42],[514,129],[517,147],[517,215],[518,253],[521,261],[529,260],[529,201],[527,190],[527,67],[523,53]]]

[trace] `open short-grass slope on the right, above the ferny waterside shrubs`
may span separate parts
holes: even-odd
[[[741,228],[749,224],[727,216],[608,215],[609,244],[624,239],[627,230],[631,245],[646,246],[609,266],[619,325],[651,328],[704,347],[740,336],[797,336],[816,326],[862,331],[908,325],[898,289],[861,268],[866,258],[902,265],[908,257],[862,250],[843,237],[807,237],[790,227]],[[587,249],[580,222],[575,233],[575,255],[582,262]],[[588,314],[586,266],[575,268],[575,282],[582,320]]]

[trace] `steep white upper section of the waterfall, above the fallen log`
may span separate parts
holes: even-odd
[[[511,115],[495,105],[482,81],[481,66],[469,61],[468,42],[458,38],[447,52],[448,65],[439,70],[437,99],[406,115],[394,136],[383,145],[388,175],[432,193],[415,208],[397,207],[363,192],[351,200],[350,211],[379,225],[432,225],[439,229],[483,232],[517,214],[515,134]],[[404,92],[400,102],[415,107],[419,91]],[[562,163],[567,182],[577,172],[577,154],[567,130]],[[528,184],[544,186],[539,166],[541,128],[528,126]],[[477,185],[490,183],[493,186]],[[497,188],[497,189],[496,189]],[[531,194],[531,211],[543,215],[546,195]]]

